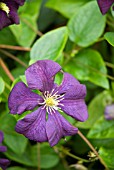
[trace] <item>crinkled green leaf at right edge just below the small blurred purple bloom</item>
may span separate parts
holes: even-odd
[[[96,121],[87,136],[95,139],[114,138],[114,121],[106,120],[102,116]]]

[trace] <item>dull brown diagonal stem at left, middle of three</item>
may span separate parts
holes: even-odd
[[[8,56],[9,58],[17,61],[19,64],[21,64],[21,65],[24,66],[25,68],[27,68],[27,65],[26,65],[23,61],[21,61],[20,59],[18,59],[17,57],[15,57],[13,54],[11,54],[11,53],[9,53],[9,52],[7,52],[7,51],[5,51],[5,50],[0,50],[0,52],[3,53],[3,54],[5,54],[5,55]]]

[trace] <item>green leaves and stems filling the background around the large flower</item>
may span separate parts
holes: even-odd
[[[79,169],[79,165],[85,170],[104,169],[98,160],[78,162],[75,156],[88,160],[90,151],[78,135],[68,137],[67,142],[61,139],[50,148],[47,143],[36,144],[15,132],[20,117],[9,114],[9,92],[16,82],[25,82],[27,66],[41,59],[58,62],[86,85],[89,119],[84,123],[67,119],[113,170],[114,120],[104,117],[105,107],[114,103],[113,11],[103,16],[96,0],[27,0],[19,16],[20,25],[0,31],[0,130],[8,148],[4,154],[11,160],[8,170],[69,170]]]

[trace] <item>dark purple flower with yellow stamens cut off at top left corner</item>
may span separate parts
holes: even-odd
[[[0,30],[11,24],[19,24],[17,10],[25,0],[0,0]]]

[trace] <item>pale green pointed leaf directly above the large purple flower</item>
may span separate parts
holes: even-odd
[[[65,47],[67,37],[66,27],[46,33],[33,45],[30,58],[34,62],[43,59],[56,60]]]

